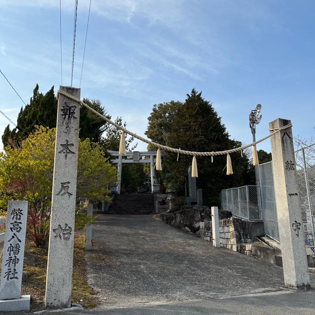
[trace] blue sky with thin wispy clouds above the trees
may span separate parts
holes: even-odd
[[[78,1],[73,86],[80,83],[89,0]],[[0,69],[29,102],[61,84],[58,0],[0,0]],[[70,85],[74,0],[62,0],[63,85]],[[203,91],[230,135],[252,142],[248,115],[291,119],[314,135],[314,0],[92,0],[81,96],[143,135],[155,103]],[[23,103],[0,76],[0,109]],[[0,134],[8,124],[0,115]],[[0,149],[2,143],[0,144]],[[139,150],[146,145],[138,144]],[[228,149],[228,148],[227,148]],[[269,141],[258,149],[270,151]]]

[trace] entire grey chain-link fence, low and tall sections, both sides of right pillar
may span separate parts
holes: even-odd
[[[315,144],[297,150],[295,160],[305,245],[315,255]],[[259,179],[260,187],[222,190],[221,204],[246,220],[263,218],[266,235],[280,242],[272,162],[259,165]]]

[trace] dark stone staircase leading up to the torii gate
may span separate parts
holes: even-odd
[[[153,193],[115,195],[105,214],[150,215],[155,213]]]

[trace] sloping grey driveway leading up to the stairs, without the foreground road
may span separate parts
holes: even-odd
[[[216,249],[153,216],[99,215],[93,239],[86,259],[100,309],[229,297],[284,283],[281,267]]]

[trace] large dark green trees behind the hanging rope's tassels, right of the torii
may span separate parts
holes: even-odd
[[[184,103],[171,101],[154,105],[148,118],[149,125],[146,135],[155,142],[173,148],[189,151],[223,151],[240,146],[240,142],[231,140],[221,118],[206,101],[201,92],[194,89]],[[197,157],[198,188],[203,189],[205,202],[209,205],[220,204],[220,190],[247,184],[249,160],[240,153],[231,154],[234,174],[225,175],[226,156]],[[175,189],[184,194],[185,179],[191,165],[192,157],[163,153],[160,176],[167,188]]]

